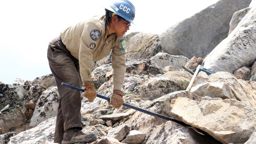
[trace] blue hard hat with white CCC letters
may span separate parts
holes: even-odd
[[[111,12],[116,13],[125,20],[128,20],[129,22],[134,24],[133,20],[135,17],[135,8],[133,4],[128,0],[119,0],[104,8]]]

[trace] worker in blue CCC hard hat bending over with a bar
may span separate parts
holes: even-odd
[[[61,83],[85,87],[84,97],[92,102],[96,90],[92,83],[92,64],[108,56],[112,50],[113,92],[109,103],[123,105],[122,87],[126,71],[126,36],[135,17],[128,0],[105,7],[106,14],[94,16],[64,29],[48,45],[47,58],[55,77],[60,101],[57,111],[54,143],[90,143],[95,134],[83,133],[80,92]],[[133,23],[134,24],[134,23]]]

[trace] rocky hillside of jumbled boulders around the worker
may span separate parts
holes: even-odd
[[[250,2],[220,0],[159,36],[128,35],[124,102],[190,126],[115,109],[100,98],[90,103],[81,93],[82,131],[98,137],[92,144],[255,144],[256,7]],[[186,91],[193,75],[181,66],[202,63],[216,73],[200,71]],[[111,54],[93,69],[98,94],[109,96]],[[58,102],[52,74],[0,82],[0,144],[53,143]]]

